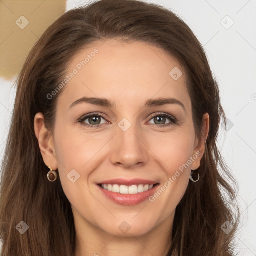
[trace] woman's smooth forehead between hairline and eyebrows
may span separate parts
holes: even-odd
[[[60,96],[66,103],[88,96],[127,106],[154,97],[175,97],[189,104],[180,63],[145,42],[96,41],[76,54],[66,73],[73,74]]]

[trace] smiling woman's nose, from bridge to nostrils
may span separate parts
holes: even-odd
[[[148,148],[139,125],[123,118],[116,127],[112,140],[111,162],[125,169],[134,169],[146,164]]]

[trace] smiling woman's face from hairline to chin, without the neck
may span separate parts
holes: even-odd
[[[76,227],[170,230],[203,153],[181,65],[143,42],[111,39],[82,50],[67,75],[48,144],[54,157],[43,158],[58,168]]]

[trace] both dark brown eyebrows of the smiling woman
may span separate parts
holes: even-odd
[[[75,100],[69,107],[69,109],[77,104],[80,103],[89,103],[93,105],[99,105],[99,106],[104,106],[104,107],[109,107],[113,108],[114,104],[111,103],[106,98],[94,98],[94,97],[82,97],[77,100]],[[148,99],[145,102],[145,107],[153,107],[153,106],[161,106],[161,105],[166,105],[166,104],[178,104],[182,106],[182,108],[186,111],[184,104],[177,100],[176,98],[156,98],[156,99]]]

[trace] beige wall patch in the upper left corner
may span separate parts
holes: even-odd
[[[65,12],[66,0],[0,0],[0,76],[16,76],[42,33]]]

